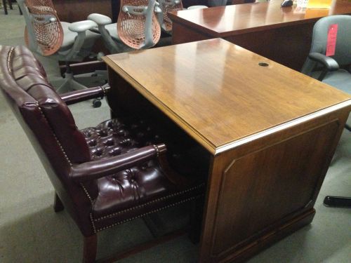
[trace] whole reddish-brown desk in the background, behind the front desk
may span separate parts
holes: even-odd
[[[326,15],[350,14],[351,2],[333,0],[331,9],[298,11],[281,8],[281,0],[178,11],[173,43],[220,37],[300,71],[312,42],[314,22]]]

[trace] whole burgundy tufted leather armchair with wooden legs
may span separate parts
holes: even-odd
[[[67,104],[109,88],[58,95],[24,46],[0,46],[0,86],[53,183],[55,211],[65,207],[84,236],[84,262],[95,261],[99,231],[203,196],[201,180],[168,168],[150,130],[118,119],[78,130]]]

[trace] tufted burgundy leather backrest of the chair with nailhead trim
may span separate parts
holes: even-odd
[[[91,203],[86,189],[69,178],[72,163],[91,160],[84,135],[69,108],[46,79],[46,73],[25,47],[0,46],[0,86],[46,168],[56,193],[83,233],[92,231]],[[86,229],[84,229],[86,228]]]

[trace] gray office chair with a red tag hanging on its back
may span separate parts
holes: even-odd
[[[337,25],[335,54],[326,56],[331,25]],[[335,26],[334,26],[335,30]],[[331,15],[321,18],[313,28],[312,46],[301,72],[351,94],[351,16]],[[345,126],[351,131],[350,126]],[[326,196],[324,204],[351,207],[351,198]]]

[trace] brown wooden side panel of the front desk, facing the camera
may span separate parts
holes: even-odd
[[[310,223],[342,123],[334,119],[277,135],[282,140],[260,149],[248,144],[214,156],[200,262],[239,262]]]

